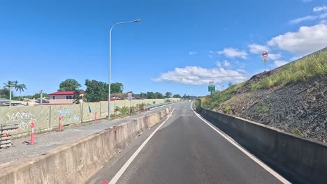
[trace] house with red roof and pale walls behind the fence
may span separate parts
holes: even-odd
[[[84,96],[85,91],[80,91],[80,96]],[[57,91],[50,93],[50,104],[73,104],[74,91]]]

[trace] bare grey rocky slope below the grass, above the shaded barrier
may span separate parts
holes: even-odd
[[[229,108],[231,110],[226,112]],[[215,110],[326,142],[327,78],[297,82],[274,90],[239,92]]]

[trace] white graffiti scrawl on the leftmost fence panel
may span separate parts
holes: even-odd
[[[8,119],[6,123],[17,123],[23,130],[29,128],[29,123],[38,123],[38,119],[34,118],[34,115],[30,112],[7,113],[6,118]]]

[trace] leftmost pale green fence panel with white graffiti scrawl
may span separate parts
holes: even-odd
[[[0,123],[17,123],[19,128],[13,135],[30,132],[32,122],[35,123],[34,130],[44,130],[50,128],[49,114],[49,106],[1,107]]]

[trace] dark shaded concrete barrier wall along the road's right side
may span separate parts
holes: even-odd
[[[292,183],[327,183],[327,145],[201,108],[201,115]]]

